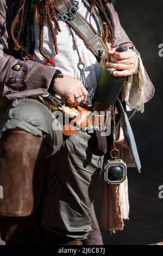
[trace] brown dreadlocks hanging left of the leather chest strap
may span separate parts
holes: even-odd
[[[33,15],[34,14],[34,15]],[[58,20],[55,16],[55,8],[52,0],[42,0],[42,1],[34,1],[34,0],[20,0],[20,5],[18,7],[18,11],[15,15],[14,21],[11,26],[11,37],[14,41],[14,45],[20,47],[21,57],[23,52],[28,54],[34,53],[34,19],[36,25],[39,25],[40,34],[39,34],[39,50],[41,55],[49,60],[50,58],[43,51],[43,27],[49,23],[49,27],[51,29],[51,34],[53,38],[55,53],[58,54],[57,47],[57,36],[55,33],[55,29],[53,27],[52,21],[54,21],[57,31],[61,32]],[[30,19],[30,42],[33,42],[30,49],[26,47],[26,25],[27,21]]]

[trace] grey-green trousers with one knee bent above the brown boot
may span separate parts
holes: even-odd
[[[1,120],[2,132],[19,127],[34,136],[43,137],[48,145],[48,186],[42,226],[60,236],[84,239],[92,231],[89,212],[103,159],[91,152],[92,133],[78,131],[71,137],[65,137],[62,130],[56,129],[59,126],[54,114],[33,99],[13,102]],[[21,210],[17,209],[19,216]],[[4,216],[5,212],[0,209],[1,214]]]

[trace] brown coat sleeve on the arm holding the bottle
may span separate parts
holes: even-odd
[[[118,17],[117,12],[114,9],[113,4],[108,5],[109,9],[111,10],[112,17],[114,19],[115,23],[115,38],[117,45],[125,45],[127,47],[133,47],[133,42],[130,41],[128,35],[124,31],[123,27],[121,26],[120,19]],[[155,89],[154,86],[145,70],[145,87],[143,87],[144,90],[144,101],[147,102],[152,99]]]

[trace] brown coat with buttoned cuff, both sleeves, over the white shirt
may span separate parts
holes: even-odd
[[[0,98],[5,96],[9,100],[23,99],[46,92],[55,72],[55,69],[52,67],[30,60],[21,61],[9,55],[8,41],[13,15],[12,2],[9,0],[1,0],[0,2]],[[133,43],[129,40],[126,32],[124,32],[113,5],[110,3],[108,5],[115,22],[117,44],[132,47]],[[13,66],[17,63],[26,69],[15,71]],[[11,85],[9,82],[11,77],[16,78],[18,81]],[[17,92],[8,94],[10,89]],[[144,91],[145,102],[147,102],[154,95],[154,87],[147,74]]]

